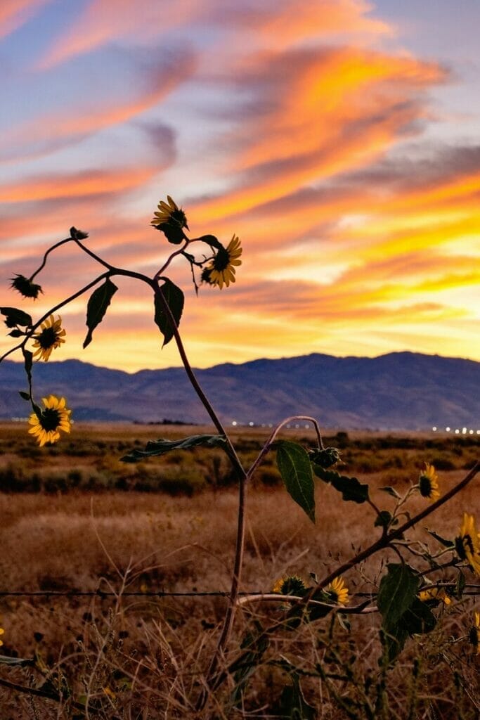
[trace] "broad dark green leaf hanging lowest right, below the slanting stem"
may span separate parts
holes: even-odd
[[[381,612],[382,625],[389,631],[412,605],[417,596],[419,579],[404,563],[389,563],[381,578],[376,604]]]

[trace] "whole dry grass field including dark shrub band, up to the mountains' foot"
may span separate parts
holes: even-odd
[[[350,616],[351,632],[325,618],[273,637],[239,701],[232,700],[230,678],[203,713],[195,713],[226,600],[149,593],[227,592],[235,549],[235,486],[227,460],[217,451],[173,451],[137,465],[121,463],[119,457],[148,439],[201,431],[205,428],[78,425],[71,438],[40,450],[22,426],[1,426],[0,591],[52,593],[0,597],[5,630],[1,650],[12,657],[37,654],[37,665],[45,662],[54,669],[47,683],[63,695],[56,703],[0,685],[1,720],[290,717],[282,714],[287,680],[279,658],[302,669],[304,695],[316,708],[315,717],[342,720],[352,715],[348,707],[338,707],[334,694],[355,696],[376,682],[378,613]],[[253,461],[264,436],[261,429],[235,428],[233,439],[246,464]],[[305,430],[286,431],[284,436],[313,443],[312,433]],[[445,491],[478,456],[474,438],[433,434],[339,433],[326,438],[326,444],[340,446],[342,472],[368,482],[376,503],[385,509],[392,499],[376,492],[379,486],[393,485],[402,492],[409,480],[417,481],[424,462],[433,462]],[[478,482],[427,518],[413,535],[427,539],[428,526],[455,536],[463,510],[478,509]],[[424,499],[415,498],[409,510],[424,506]],[[314,526],[280,487],[273,458],[258,470],[247,511],[242,590],[249,592],[269,591],[286,574],[324,575],[338,558],[347,559],[379,533],[370,508],[341,502],[338,493],[321,482]],[[345,577],[350,593],[371,590],[384,563],[396,559],[389,551],[350,572]],[[409,562],[421,565],[415,559]],[[471,575],[466,579],[474,582]],[[68,590],[114,595],[55,595]],[[474,598],[468,597],[438,608],[435,631],[407,642],[388,675],[388,714],[379,717],[478,719],[480,656],[474,657],[468,642],[448,642],[451,636],[468,634],[473,608]],[[242,606],[225,662],[237,656],[247,626],[279,613],[276,603]],[[340,679],[329,685],[309,677],[318,663],[330,670],[348,666],[351,678],[342,680],[339,671]],[[41,672],[31,667],[0,666],[2,678],[35,687],[42,682]],[[88,698],[90,709],[75,708],[68,688],[81,702]]]

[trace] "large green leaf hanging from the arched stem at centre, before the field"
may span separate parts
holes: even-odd
[[[307,451],[301,445],[287,440],[281,440],[275,446],[276,463],[287,492],[314,523],[315,488]]]

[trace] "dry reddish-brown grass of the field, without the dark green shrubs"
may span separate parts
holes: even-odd
[[[20,442],[18,428],[5,429],[3,440],[14,447]],[[166,434],[164,429],[159,432],[159,428],[141,431],[133,428],[142,443],[146,436]],[[81,428],[81,433],[92,449],[92,454],[83,457],[81,463],[95,464],[97,451],[101,451],[96,436],[88,427]],[[173,428],[173,433],[184,436],[188,429]],[[258,440],[255,433],[243,433],[245,437]],[[101,442],[106,444],[118,446],[126,438],[126,428],[102,429]],[[413,462],[418,467],[420,449],[414,451],[417,455]],[[407,453],[414,451],[409,449]],[[253,454],[248,448],[244,452]],[[450,449],[445,447],[442,452],[447,456]],[[390,451],[399,453],[398,449]],[[17,452],[10,453],[8,462],[14,462],[17,456]],[[424,451],[422,462],[431,459]],[[38,464],[38,460],[35,462]],[[177,458],[177,462],[181,459]],[[201,462],[207,462],[204,456]],[[354,462],[350,460],[350,464]],[[464,456],[462,462],[465,463]],[[64,463],[76,467],[74,456],[65,459],[48,452],[42,455],[44,467],[45,464],[60,467]],[[157,464],[165,465],[166,460]],[[405,472],[402,467],[396,467],[389,473],[358,473],[358,477],[371,486],[376,503],[388,509],[392,499],[376,488],[395,484],[402,490],[405,487],[402,472]],[[450,487],[464,474],[462,469],[440,472],[440,482],[444,488]],[[417,528],[417,536],[427,538],[424,525],[443,536],[455,536],[461,513],[476,506],[477,495],[478,481],[440,508],[435,516],[427,518]],[[424,503],[425,500],[417,498],[409,510],[413,513]],[[101,588],[119,595],[145,590],[227,591],[235,548],[236,513],[235,490],[219,491],[215,486],[194,498],[111,490],[0,495],[0,590]],[[254,487],[248,498],[243,590],[268,591],[273,581],[284,574],[305,578],[309,572],[316,572],[319,577],[325,575],[336,567],[338,558],[346,559],[354,549],[371,542],[379,533],[378,528],[372,529],[372,524],[373,512],[369,508],[343,503],[332,488],[321,483],[317,487],[315,526],[281,488]],[[431,544],[434,546],[435,542]],[[389,551],[374,557],[366,567],[350,572],[345,580],[352,593],[370,590],[385,562],[398,562],[398,558]],[[453,575],[447,572],[446,577]],[[473,579],[468,576],[467,580]],[[225,598],[147,595],[117,600],[6,597],[0,600],[1,625],[5,629],[2,650],[19,657],[32,657],[38,652],[50,667],[60,663],[58,668],[65,673],[76,696],[88,695],[89,701],[99,703],[102,718],[194,717],[191,703],[201,689],[225,602]],[[468,600],[441,610],[438,631],[408,642],[397,669],[389,674],[388,717],[402,720],[477,717],[478,709],[470,697],[475,694],[478,680],[471,650],[465,642],[448,644],[449,635],[460,637],[468,632],[471,610]],[[280,612],[276,605],[245,606],[237,616],[230,660],[236,657],[243,634],[253,620],[268,624],[268,618],[279,617]],[[229,704],[230,679],[201,717],[282,717],[279,696],[289,681],[284,670],[269,664],[279,657],[307,672],[316,662],[332,669],[339,657],[344,663],[354,657],[352,672],[359,687],[366,678],[378,678],[379,617],[355,616],[351,624],[351,634],[335,626],[332,637],[328,635],[330,618],[306,625],[296,633],[279,634],[266,652],[244,704],[238,707]],[[337,660],[329,658],[328,653],[337,646]],[[416,683],[412,680],[414,662],[420,664]],[[2,667],[0,678],[28,684],[30,672]],[[35,678],[38,683],[38,672]],[[55,676],[53,682],[58,686],[60,680]],[[303,684],[306,698],[317,707],[319,718],[347,717],[335,705],[331,688],[325,683],[304,678]],[[351,683],[334,684],[340,695],[351,692],[353,687]],[[415,714],[409,716],[406,708],[412,693],[417,693],[419,699]],[[32,705],[28,696],[5,688],[0,688],[0,707],[2,720],[35,718],[35,713],[41,719],[76,716],[68,700],[60,705],[60,710],[57,703],[41,699]],[[79,714],[78,718],[87,716],[88,713]]]

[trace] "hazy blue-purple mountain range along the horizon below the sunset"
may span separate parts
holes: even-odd
[[[377,358],[304,355],[196,370],[226,423],[276,423],[313,415],[322,426],[402,428],[479,427],[480,363],[415,353]],[[76,420],[169,418],[209,421],[183,368],[128,374],[78,360],[37,363],[35,396],[65,395]],[[0,364],[0,418],[29,407],[21,363]]]

